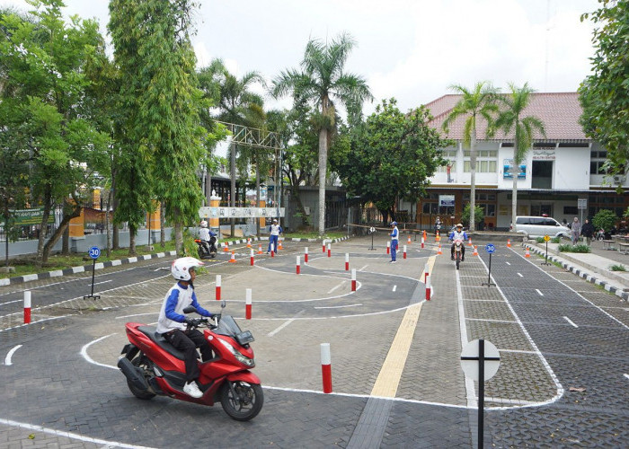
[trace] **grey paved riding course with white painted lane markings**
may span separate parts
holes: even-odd
[[[485,445],[629,444],[626,302],[500,242],[492,255],[497,286],[482,286],[488,278],[482,249],[473,256],[468,247],[456,271],[446,244],[437,255],[432,237],[424,249],[405,238],[396,264],[388,263],[381,235],[374,251],[371,237],[333,243],[331,257],[320,242],[283,242],[278,255],[256,255],[251,267],[241,244],[231,248],[235,263],[226,253],[208,261],[208,273],[195,283],[201,304],[218,310],[220,275],[225,313],[256,339],[253,371],[265,402],[248,423],[228,418],[220,406],[139,401],[115,368],[124,323],[155,323],[173,285],[172,258],[99,274],[98,301],[83,299],[90,273],[0,287],[7,307],[0,445],[469,447],[476,444],[478,385],[465,379],[459,358],[477,338],[501,351],[498,374],[485,383]],[[346,253],[357,270],[355,292]],[[35,322],[20,326],[26,288],[33,291]],[[244,320],[247,288],[251,321]],[[322,392],[322,343],[332,348],[332,394]]]

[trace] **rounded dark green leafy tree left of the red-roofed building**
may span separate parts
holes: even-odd
[[[348,195],[373,202],[386,221],[395,218],[398,198],[425,194],[430,177],[446,163],[441,149],[452,143],[428,126],[430,119],[424,106],[403,113],[395,99],[378,105],[351,145],[332,157]]]

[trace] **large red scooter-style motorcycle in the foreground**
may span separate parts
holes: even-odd
[[[225,307],[225,302],[221,304]],[[184,313],[196,312],[192,306]],[[217,314],[213,322],[198,318],[190,329],[204,325],[204,336],[214,357],[199,362],[199,390],[203,396],[192,398],[183,392],[186,369],[183,353],[155,332],[155,327],[137,322],[126,324],[129,343],[122,348],[118,367],[127,377],[128,389],[139,399],[156,395],[180,401],[212,406],[220,401],[227,415],[238,421],[254,418],[262,408],[264,397],[260,379],[249,371],[255,366],[251,331],[242,331],[230,315]]]

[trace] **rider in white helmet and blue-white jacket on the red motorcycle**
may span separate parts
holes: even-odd
[[[184,354],[186,366],[186,383],[183,392],[193,398],[200,398],[203,393],[199,390],[197,379],[199,379],[199,365],[197,365],[197,348],[201,351],[204,362],[212,358],[212,349],[203,334],[196,329],[187,329],[187,324],[195,320],[186,317],[183,309],[192,305],[197,312],[209,318],[213,313],[209,313],[199,305],[197,295],[194,293],[193,282],[197,277],[197,267],[204,263],[193,257],[183,257],[173,260],[171,273],[177,279],[177,283],[168,290],[164,298],[164,304],[157,319],[157,332],[164,336],[174,348],[179,349]]]

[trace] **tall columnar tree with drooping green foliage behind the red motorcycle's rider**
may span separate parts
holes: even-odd
[[[128,123],[127,142],[135,146],[129,149],[137,154],[129,166],[137,181],[147,185],[136,198],[143,215],[152,194],[164,201],[179,253],[183,250],[183,225],[196,222],[203,198],[197,178],[204,148],[199,126],[202,92],[196,87],[196,57],[190,43],[193,8],[188,0],[110,3],[109,29],[125,80],[121,98]],[[148,181],[149,177],[154,181]],[[136,189],[135,185],[128,187]],[[137,216],[129,216],[133,225],[142,223]],[[131,225],[129,229],[135,231]]]

